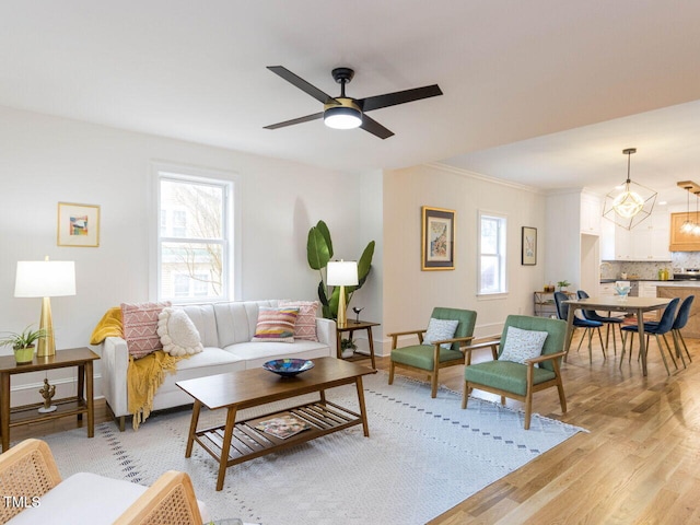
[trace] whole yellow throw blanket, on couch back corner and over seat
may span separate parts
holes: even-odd
[[[100,345],[107,337],[124,337],[121,308],[115,306],[103,315],[90,338],[91,345]],[[129,413],[133,415],[133,430],[147,420],[153,409],[153,396],[165,381],[165,373],[174,373],[177,362],[185,357],[170,355],[156,350],[141,359],[129,357],[127,370],[127,397]]]

